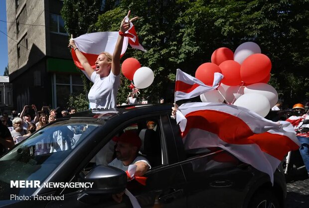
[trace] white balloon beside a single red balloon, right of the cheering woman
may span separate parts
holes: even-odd
[[[150,68],[143,66],[136,70],[133,76],[133,82],[136,88],[144,89],[149,87],[154,81],[154,72]]]

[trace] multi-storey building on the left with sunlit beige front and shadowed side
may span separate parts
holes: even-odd
[[[64,108],[70,94],[83,92],[67,48],[62,5],[62,0],[6,0],[9,79],[19,112],[31,104]]]

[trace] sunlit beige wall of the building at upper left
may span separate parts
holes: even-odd
[[[15,2],[15,0],[6,0],[7,35],[13,38],[13,40],[7,38],[10,75],[27,64],[26,68],[23,67],[23,70],[26,70],[46,54],[44,0],[18,0],[17,7]],[[40,53],[28,59],[33,43],[39,48]],[[19,58],[17,48],[19,48]],[[15,76],[10,76],[11,81],[14,78]]]

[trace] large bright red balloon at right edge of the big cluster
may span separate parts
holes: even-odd
[[[240,77],[245,83],[258,83],[269,75],[272,62],[262,53],[255,53],[244,60],[240,67]]]

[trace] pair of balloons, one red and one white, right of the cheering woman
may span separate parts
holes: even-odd
[[[148,67],[141,67],[140,62],[135,58],[127,58],[121,65],[123,75],[133,80],[138,89],[149,87],[154,82],[154,72]]]

